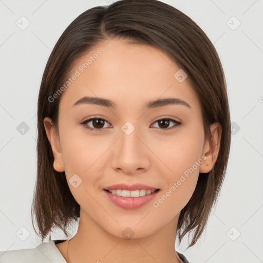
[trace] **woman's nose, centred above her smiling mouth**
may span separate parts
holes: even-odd
[[[151,145],[147,145],[139,128],[129,134],[119,133],[120,137],[111,149],[111,166],[117,172],[127,175],[135,175],[148,170],[151,157]],[[148,147],[149,148],[148,148]]]

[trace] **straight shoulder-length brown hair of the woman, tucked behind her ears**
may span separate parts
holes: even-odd
[[[48,98],[65,83],[77,59],[101,41],[113,38],[164,51],[193,84],[202,108],[205,138],[211,140],[210,124],[219,122],[222,126],[216,163],[211,172],[199,176],[193,196],[180,212],[179,241],[192,231],[191,247],[205,228],[226,173],[231,139],[226,80],[216,49],[202,29],[189,16],[157,0],[120,0],[88,9],[55,44],[43,74],[37,105],[37,178],[31,212],[39,233],[34,230],[42,241],[53,227],[68,236],[66,227],[80,217],[80,205],[70,192],[65,172],[53,168],[54,157],[43,120],[50,117],[58,130],[61,96],[53,102]]]

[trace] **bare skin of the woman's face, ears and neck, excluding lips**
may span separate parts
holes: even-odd
[[[70,262],[182,262],[175,250],[179,213],[190,200],[199,172],[209,172],[217,158],[221,126],[211,125],[212,142],[205,140],[201,106],[189,78],[174,78],[180,67],[165,53],[148,45],[105,41],[76,61],[102,54],[61,95],[59,134],[46,117],[44,125],[55,158],[54,169],[67,180],[77,174],[82,183],[69,188],[81,206],[80,223],[68,247]],[[114,101],[115,109],[95,104],[72,105],[84,96]],[[145,109],[148,101],[179,98],[185,105]],[[106,120],[101,131],[88,117]],[[175,123],[156,122],[172,118]],[[121,127],[135,127],[126,135]],[[98,127],[97,125],[96,127]],[[168,128],[167,128],[168,127]],[[158,208],[158,200],[202,156],[206,160]],[[206,164],[210,164],[207,166]],[[203,175],[205,176],[205,175]],[[116,183],[142,183],[160,189],[154,200],[134,210],[119,208],[103,189]],[[134,232],[126,239],[122,232]],[[67,258],[68,240],[57,244]]]

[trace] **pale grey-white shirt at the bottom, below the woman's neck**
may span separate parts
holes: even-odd
[[[55,246],[64,241],[66,240],[49,240],[32,249],[1,251],[0,263],[67,263]],[[184,263],[190,263],[183,254],[177,254]]]

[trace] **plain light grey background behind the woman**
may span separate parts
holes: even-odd
[[[206,231],[193,248],[185,250],[187,237],[176,248],[191,262],[263,262],[263,1],[163,2],[189,15],[215,45],[235,122],[226,180]],[[34,248],[41,242],[31,226],[31,202],[42,74],[69,23],[101,4],[107,2],[0,0],[1,251]],[[16,25],[21,16],[30,22],[25,30]],[[241,23],[235,30],[238,21],[232,16]],[[29,126],[24,135],[16,129],[21,122]],[[64,235],[58,232],[52,238]]]

